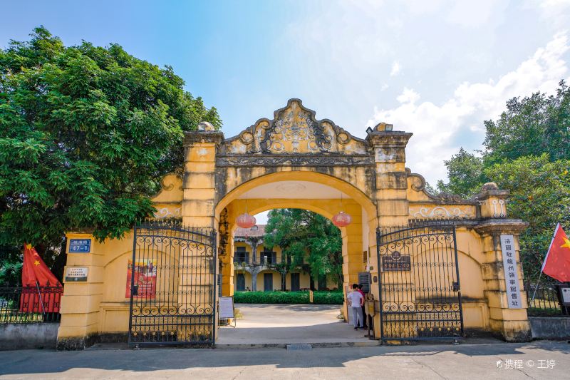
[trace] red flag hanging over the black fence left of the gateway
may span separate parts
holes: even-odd
[[[53,290],[42,292],[42,288],[61,287],[61,283],[30,244],[24,245],[22,286],[24,290],[20,297],[21,312],[59,312],[61,294]]]

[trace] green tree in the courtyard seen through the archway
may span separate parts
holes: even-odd
[[[341,231],[326,217],[308,210],[271,210],[265,230],[264,245],[281,247],[291,260],[287,269],[307,265],[312,279],[328,275],[341,286]]]

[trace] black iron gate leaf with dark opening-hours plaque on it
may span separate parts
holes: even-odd
[[[455,225],[410,220],[376,239],[381,339],[463,337]]]

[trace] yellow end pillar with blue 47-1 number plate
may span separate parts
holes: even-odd
[[[90,233],[68,232],[58,349],[86,349],[97,339],[99,304],[103,297],[103,252]],[[89,252],[70,252],[71,239],[89,242]],[[68,270],[86,268],[87,278],[66,280]],[[83,269],[80,269],[83,270]]]

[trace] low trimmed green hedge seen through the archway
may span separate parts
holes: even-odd
[[[313,292],[314,304],[342,304],[343,292]],[[309,304],[309,292],[235,292],[237,304]]]

